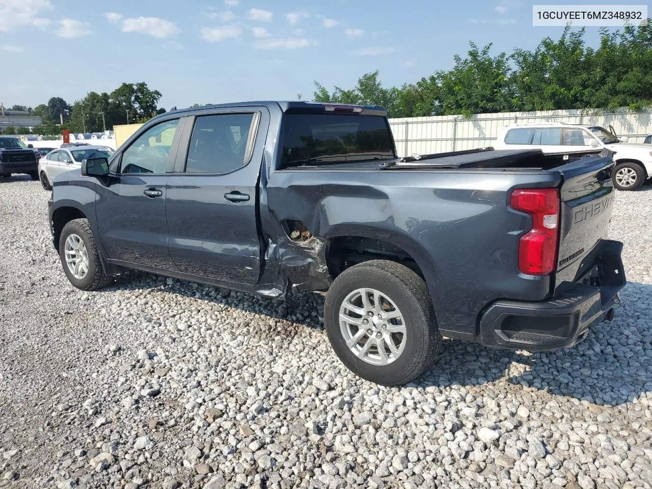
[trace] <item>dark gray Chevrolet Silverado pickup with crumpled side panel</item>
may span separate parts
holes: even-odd
[[[248,102],[158,115],[108,160],[53,182],[70,282],[140,269],[267,297],[325,293],[335,353],[362,378],[417,378],[441,336],[573,346],[611,319],[612,155],[397,158],[381,107]]]

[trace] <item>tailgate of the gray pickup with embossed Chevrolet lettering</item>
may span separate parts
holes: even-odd
[[[613,155],[605,149],[556,169],[563,175],[556,286],[576,282],[595,265],[614,206]]]

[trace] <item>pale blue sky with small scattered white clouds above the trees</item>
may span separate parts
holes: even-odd
[[[493,42],[497,53],[559,37],[562,27],[532,26],[531,5],[0,0],[0,102],[36,106],[62,96],[72,103],[142,81],[163,94],[165,108],[297,94],[310,100],[314,80],[349,88],[376,69],[383,84],[401,85],[451,68],[471,40]],[[587,27],[589,44],[597,45],[597,31]]]

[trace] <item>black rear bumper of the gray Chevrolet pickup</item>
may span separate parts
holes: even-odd
[[[599,246],[595,273],[585,281],[589,283],[572,284],[548,301],[491,304],[480,321],[482,344],[533,351],[567,348],[584,340],[594,323],[611,319],[627,283],[623,243],[603,240]]]

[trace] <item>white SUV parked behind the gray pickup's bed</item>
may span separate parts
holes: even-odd
[[[610,126],[611,127],[611,126]],[[636,190],[652,177],[652,148],[646,144],[627,143],[600,126],[580,126],[564,123],[512,124],[504,127],[495,149],[539,148],[544,153],[599,151],[615,152],[614,186],[619,190]]]

